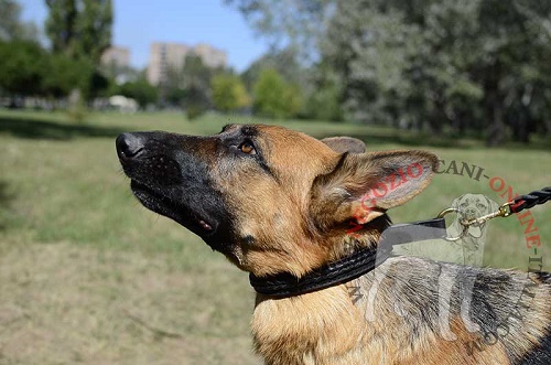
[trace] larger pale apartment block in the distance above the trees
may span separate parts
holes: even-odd
[[[166,79],[169,67],[182,68],[187,55],[197,55],[208,67],[225,67],[227,54],[225,51],[215,49],[208,44],[198,44],[191,47],[179,43],[151,44],[148,66],[148,80],[151,85],[159,85]]]

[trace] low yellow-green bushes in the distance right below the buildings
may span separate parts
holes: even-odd
[[[207,67],[199,56],[188,55],[180,69],[168,69],[159,85],[159,103],[182,106],[192,119],[207,109],[270,118],[299,116],[300,88],[287,82],[271,64],[260,63],[255,75],[239,75],[230,68]]]

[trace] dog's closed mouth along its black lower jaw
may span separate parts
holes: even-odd
[[[164,215],[193,233],[206,237],[216,232],[218,226],[216,219],[206,217],[192,207],[169,194],[163,194],[134,179],[131,179],[130,187],[134,196],[148,210]]]

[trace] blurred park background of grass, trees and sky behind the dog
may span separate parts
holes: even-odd
[[[122,131],[435,152],[395,222],[550,184],[550,1],[0,0],[0,364],[260,363],[247,275],[136,202]],[[531,212],[490,224],[484,265],[550,269]]]

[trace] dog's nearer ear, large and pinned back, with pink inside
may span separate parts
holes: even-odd
[[[312,186],[311,214],[320,227],[353,221],[366,224],[419,194],[439,165],[424,151],[345,153]]]

